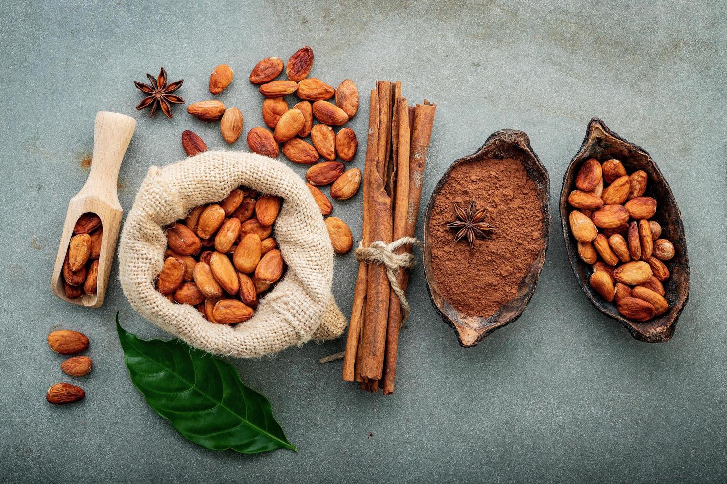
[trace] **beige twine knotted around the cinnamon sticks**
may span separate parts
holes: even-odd
[[[376,240],[371,242],[369,247],[364,247],[364,241],[361,240],[358,242],[356,250],[353,251],[356,261],[382,264],[386,267],[386,276],[389,279],[391,290],[393,290],[401,304],[401,326],[403,326],[403,324],[406,323],[406,320],[409,319],[409,311],[411,308],[409,308],[409,303],[406,302],[406,296],[396,280],[396,271],[400,268],[410,269],[414,267],[417,263],[417,259],[414,257],[414,254],[406,252],[397,254],[395,251],[402,245],[407,244],[415,245],[419,247],[419,249],[422,248],[422,242],[419,242],[419,239],[416,237],[401,237],[390,244],[387,244],[382,240]],[[343,358],[344,354],[345,351],[340,351],[339,353],[324,356],[318,360],[318,363],[329,363],[331,361],[339,360],[340,358]]]

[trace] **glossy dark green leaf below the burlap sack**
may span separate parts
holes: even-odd
[[[296,450],[268,399],[246,387],[227,361],[179,340],[140,340],[121,327],[119,313],[116,330],[132,383],[185,438],[213,451]]]

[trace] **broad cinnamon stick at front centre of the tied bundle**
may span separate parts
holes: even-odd
[[[369,237],[373,240],[391,242],[392,213],[391,197],[386,192],[386,179],[390,165],[392,87],[387,81],[377,82],[379,91],[379,143],[376,165],[370,172]],[[389,315],[389,279],[386,268],[381,264],[369,266],[366,290],[366,324],[363,327],[363,348],[361,348],[361,378],[381,380],[386,345],[386,327]],[[358,372],[358,369],[357,369]]]

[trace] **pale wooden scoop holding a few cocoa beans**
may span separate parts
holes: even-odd
[[[58,255],[55,259],[51,280],[53,294],[69,303],[90,308],[97,308],[103,304],[123,214],[119,204],[119,194],[116,192],[116,179],[119,177],[119,168],[121,168],[121,160],[124,159],[126,147],[129,146],[129,141],[134,134],[134,126],[136,126],[134,118],[118,112],[100,111],[96,115],[91,173],[81,191],[68,203],[68,212],[65,214],[63,234],[60,236]],[[103,227],[97,290],[94,295],[84,294],[80,298],[70,299],[66,297],[63,289],[63,261],[68,252],[68,243],[73,237],[76,221],[81,215],[88,212],[99,216]]]

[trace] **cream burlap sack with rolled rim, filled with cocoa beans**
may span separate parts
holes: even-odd
[[[222,200],[240,185],[284,199],[275,237],[288,268],[252,319],[231,327],[206,321],[191,305],[170,303],[156,291],[154,279],[164,260],[164,226],[185,218],[192,208]],[[331,294],[332,277],[333,249],[308,188],[283,163],[252,153],[204,152],[151,167],[121,232],[119,279],[129,303],[162,329],[210,353],[263,356],[340,336],[347,323]]]

